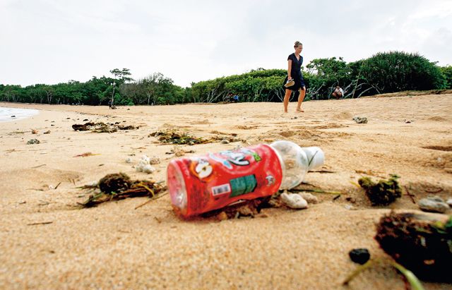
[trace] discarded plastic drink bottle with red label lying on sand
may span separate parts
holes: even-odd
[[[167,185],[174,211],[191,217],[237,200],[251,200],[290,189],[309,169],[323,164],[319,147],[276,141],[174,159],[167,167]]]

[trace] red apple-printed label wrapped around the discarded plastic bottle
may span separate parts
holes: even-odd
[[[184,217],[272,195],[281,181],[278,155],[266,144],[175,159],[167,169],[172,203]]]

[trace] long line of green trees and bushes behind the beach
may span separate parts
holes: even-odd
[[[368,59],[346,63],[343,58],[314,59],[302,67],[307,99],[329,99],[336,85],[344,98],[400,92],[452,88],[452,66],[437,66],[424,56],[406,52],[383,52]],[[70,80],[57,85],[2,85],[2,102],[41,104],[117,105],[181,104],[187,102],[225,102],[229,94],[240,102],[282,102],[283,69],[257,68],[240,75],[174,85],[162,73],[133,80],[128,68],[115,68],[113,77],[93,76],[85,83]]]

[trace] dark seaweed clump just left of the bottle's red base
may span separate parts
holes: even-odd
[[[132,181],[126,174],[107,174],[94,186],[82,186],[81,189],[97,190],[100,192],[91,194],[88,200],[78,203],[82,207],[94,207],[110,200],[122,200],[148,196],[156,198],[166,188],[155,181]]]

